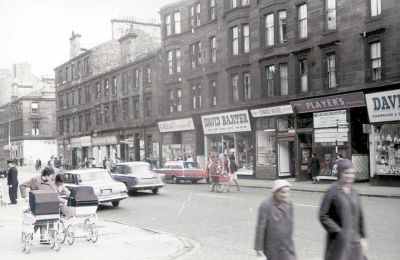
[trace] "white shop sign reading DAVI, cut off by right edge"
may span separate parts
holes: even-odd
[[[400,89],[366,94],[370,123],[400,121]]]

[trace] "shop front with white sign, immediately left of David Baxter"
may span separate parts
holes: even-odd
[[[192,118],[158,122],[158,128],[161,135],[162,165],[166,161],[187,160],[189,157],[198,160],[196,144],[201,143],[201,140],[198,140]]]

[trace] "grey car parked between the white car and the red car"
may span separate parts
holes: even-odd
[[[114,180],[124,183],[130,193],[151,190],[156,194],[164,186],[162,176],[154,172],[148,162],[118,163],[110,171]]]

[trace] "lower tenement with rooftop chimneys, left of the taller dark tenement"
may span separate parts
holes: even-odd
[[[114,19],[112,39],[89,50],[70,38],[70,60],[55,68],[57,143],[67,167],[95,159],[159,158],[160,25]]]

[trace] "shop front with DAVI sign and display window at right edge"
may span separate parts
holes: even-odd
[[[371,184],[400,186],[400,90],[365,95]]]

